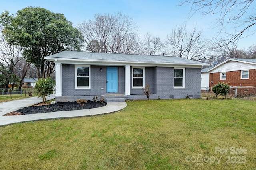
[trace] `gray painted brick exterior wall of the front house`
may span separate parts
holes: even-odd
[[[102,72],[100,72],[102,68]],[[62,96],[56,102],[92,100],[94,95],[124,94],[124,67],[118,67],[118,92],[106,92],[106,66],[91,66],[91,89],[75,89],[75,65],[62,64]],[[201,68],[185,68],[185,88],[174,89],[173,67],[145,67],[145,84],[150,84],[150,99],[200,98]],[[104,88],[103,90],[101,88]],[[146,99],[142,89],[132,89],[132,66],[130,67],[129,99]]]

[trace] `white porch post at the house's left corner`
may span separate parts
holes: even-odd
[[[62,64],[55,62],[55,97],[62,96]]]

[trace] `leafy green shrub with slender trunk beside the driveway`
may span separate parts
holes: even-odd
[[[40,78],[35,84],[35,90],[38,97],[43,98],[43,103],[46,101],[46,97],[53,93],[53,87],[55,83],[52,78]]]

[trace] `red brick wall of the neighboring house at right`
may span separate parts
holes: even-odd
[[[241,71],[226,72],[226,80],[220,80],[220,72],[210,73],[209,87],[218,84],[218,82],[229,82],[230,86],[256,86],[256,69],[249,70],[249,79],[241,79]]]

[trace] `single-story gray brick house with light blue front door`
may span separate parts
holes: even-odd
[[[201,68],[205,63],[170,56],[62,51],[45,57],[54,61],[56,102],[121,96],[146,99],[200,98]],[[107,99],[108,101],[108,99]]]

